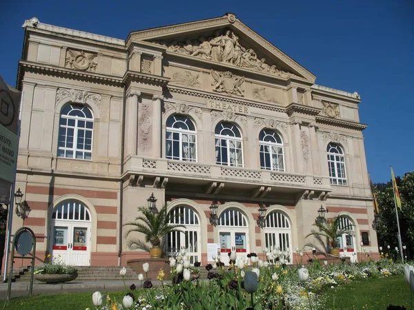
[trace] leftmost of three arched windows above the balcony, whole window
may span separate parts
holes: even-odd
[[[166,125],[166,157],[177,161],[197,161],[197,134],[193,121],[176,114],[168,117]]]

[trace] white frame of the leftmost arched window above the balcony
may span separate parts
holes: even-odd
[[[176,118],[177,116],[184,117],[184,118],[186,118],[186,120],[185,121],[177,120],[177,118]],[[172,127],[166,127],[166,158],[171,159],[171,160],[175,160],[175,161],[197,162],[197,129],[195,127],[195,124],[193,123],[193,121],[188,116],[179,115],[179,114],[173,114],[170,117],[168,117],[166,123],[168,123],[170,118],[175,118],[175,121],[174,121],[174,123],[172,123]],[[193,125],[193,127],[195,128],[195,130],[190,130],[190,129],[184,130],[182,128],[175,128],[174,127],[174,125],[176,123],[184,123],[187,126],[187,128],[189,128],[187,122],[190,122]],[[169,133],[171,134],[170,139],[168,139],[168,134]],[[179,140],[178,141],[174,140],[174,138],[173,138],[174,134],[179,134]],[[187,142],[183,141],[183,134],[188,135],[188,141]],[[194,137],[194,142],[190,142],[190,136]],[[178,147],[179,147],[179,158],[175,158],[175,156],[174,156],[175,143],[177,143],[177,142],[178,142]],[[171,143],[171,155],[170,156],[168,156],[168,143]],[[188,156],[189,156],[188,158],[185,158],[183,156],[184,143],[186,143],[188,145]],[[190,156],[191,156],[190,145],[193,144],[193,143],[194,143],[194,149],[195,149],[195,152],[194,152],[195,157],[190,158]]]

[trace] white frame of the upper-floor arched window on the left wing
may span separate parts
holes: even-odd
[[[68,112],[68,114],[60,114],[59,116],[59,133],[58,133],[58,146],[57,146],[57,156],[62,158],[72,158],[72,159],[79,159],[82,161],[92,161],[92,149],[93,149],[93,127],[94,127],[94,116],[92,113],[92,110],[90,110],[86,105],[80,105],[79,103],[68,103],[70,105],[71,110]],[[62,108],[65,109],[68,105],[64,105]],[[74,110],[79,110],[83,112],[83,109],[86,109],[90,112],[91,118],[88,117],[79,117],[79,116],[70,116],[70,112]],[[85,114],[85,112],[83,112]],[[62,119],[66,120],[66,125],[61,124]],[[75,121],[75,125],[68,125],[68,122],[72,120]],[[84,121],[85,127],[79,127],[79,122]],[[88,128],[86,126],[87,123],[92,123],[92,128]],[[65,134],[61,135],[61,129],[65,128]],[[66,144],[68,143],[68,130],[73,130],[73,141],[72,141],[72,147],[66,147]],[[78,148],[78,137],[79,132],[83,130],[83,149]],[[86,140],[86,132],[90,132],[90,149],[85,149],[85,140]],[[65,146],[60,146],[59,143],[63,140],[63,144]],[[68,152],[72,152],[72,156],[68,156]],[[77,153],[81,152],[82,158],[77,158]],[[62,154],[63,153],[63,154]],[[90,155],[90,158],[85,158],[86,154]]]

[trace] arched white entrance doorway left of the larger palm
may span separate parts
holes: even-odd
[[[59,203],[52,213],[50,254],[68,265],[90,265],[91,217],[87,207],[76,200]]]

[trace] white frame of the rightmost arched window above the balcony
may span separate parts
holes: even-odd
[[[262,132],[264,132],[265,135],[263,136],[262,140],[259,141],[260,168],[264,170],[284,172],[285,171],[285,158],[284,158],[284,146],[283,146],[282,137],[275,130],[264,129],[260,132],[259,136],[262,134]],[[272,134],[270,134],[270,132]],[[274,142],[264,141],[264,138],[266,138],[267,136],[272,137]],[[281,143],[277,142],[276,136],[280,139]],[[265,152],[266,147],[268,147],[269,152]],[[279,149],[282,149],[282,155],[279,155],[278,152],[274,152],[273,150],[274,147],[276,148],[276,151],[278,151]],[[264,156],[264,165],[262,165],[262,154]],[[270,157],[270,160],[269,160],[270,166],[266,165],[266,156]],[[279,167],[279,161],[276,161],[277,167],[273,166],[273,156],[277,156],[277,157],[282,156],[282,165],[283,165],[282,168]]]

